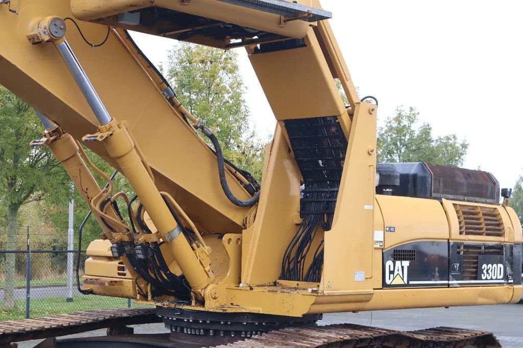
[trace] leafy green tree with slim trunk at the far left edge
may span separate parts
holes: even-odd
[[[0,192],[6,209],[7,250],[16,249],[18,212],[51,193],[69,192],[69,180],[46,147],[29,147],[43,126],[24,101],[0,86]],[[15,254],[6,255],[4,306],[14,307]]]

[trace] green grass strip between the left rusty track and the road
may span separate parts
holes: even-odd
[[[49,297],[33,299],[30,304],[31,318],[40,318],[90,309],[124,308],[127,307],[127,299],[96,295],[78,295],[73,297],[73,302],[71,303],[67,303],[64,297]],[[143,305],[132,304],[132,307],[143,307]],[[6,309],[0,304],[0,321],[25,319],[25,317],[25,300],[16,300],[15,308],[12,309]]]

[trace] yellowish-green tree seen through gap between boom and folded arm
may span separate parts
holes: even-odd
[[[260,179],[265,144],[249,126],[238,69],[234,51],[180,43],[168,55],[166,72],[180,102],[218,137],[225,157]]]

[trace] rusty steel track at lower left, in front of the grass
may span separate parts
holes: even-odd
[[[0,321],[0,346],[104,328],[161,322],[156,308],[87,310],[38,319]]]

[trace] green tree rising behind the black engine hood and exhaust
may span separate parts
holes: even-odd
[[[434,138],[432,126],[422,123],[416,130],[419,113],[411,107],[398,107],[378,129],[378,161],[427,162],[436,165],[461,166],[469,144],[456,134]]]

